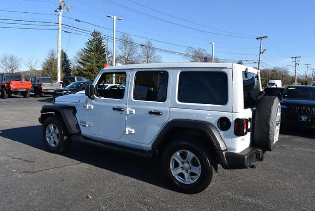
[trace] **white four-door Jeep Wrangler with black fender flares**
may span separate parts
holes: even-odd
[[[101,70],[85,92],[43,106],[39,121],[53,153],[86,141],[148,158],[160,154],[171,184],[191,194],[213,182],[218,164],[248,168],[274,148],[279,100],[260,94],[259,71],[244,65],[123,65]]]

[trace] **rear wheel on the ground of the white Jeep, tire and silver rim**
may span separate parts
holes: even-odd
[[[169,143],[162,154],[162,169],[170,184],[179,192],[186,194],[196,194],[206,189],[214,181],[217,170],[214,153],[209,152],[212,150],[203,141],[195,138],[177,139]],[[187,153],[192,157],[189,163],[186,163]],[[178,158],[184,164],[176,161]],[[174,167],[180,171],[177,175],[176,170],[171,170]],[[185,172],[191,181],[186,179]],[[199,173],[199,176],[193,172]]]

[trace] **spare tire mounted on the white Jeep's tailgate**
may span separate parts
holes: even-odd
[[[263,96],[257,106],[253,124],[253,144],[265,151],[272,151],[279,138],[281,106],[274,96]]]

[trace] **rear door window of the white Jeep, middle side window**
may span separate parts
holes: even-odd
[[[166,101],[168,72],[139,71],[135,76],[133,99],[141,101]]]

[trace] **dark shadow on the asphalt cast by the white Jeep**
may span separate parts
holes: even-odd
[[[41,125],[1,130],[0,136],[47,151]],[[76,141],[73,141],[70,150],[61,156],[174,190],[168,186],[162,174],[158,157],[145,159]]]

